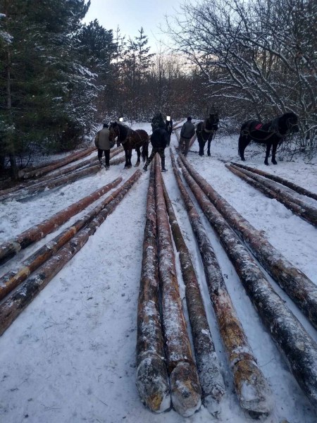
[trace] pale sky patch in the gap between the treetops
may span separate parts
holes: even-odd
[[[148,45],[154,51],[158,44],[156,39],[166,42],[166,36],[159,30],[159,25],[165,23],[164,16],[175,14],[181,3],[182,0],[91,0],[84,22],[98,19],[100,25],[113,32],[119,25],[121,34],[132,39],[143,27],[149,38]]]

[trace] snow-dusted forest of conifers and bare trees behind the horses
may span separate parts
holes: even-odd
[[[237,131],[286,111],[287,148],[317,153],[316,0],[201,0],[167,20],[171,47],[82,24],[85,0],[0,0],[0,173],[78,147],[100,123],[206,116]],[[173,44],[173,45],[172,45]]]

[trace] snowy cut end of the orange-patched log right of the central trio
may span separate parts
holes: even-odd
[[[251,417],[258,418],[272,411],[271,389],[254,361],[237,362],[233,369],[233,378],[240,405]]]

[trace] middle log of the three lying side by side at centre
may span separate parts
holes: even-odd
[[[183,417],[193,415],[201,405],[201,388],[192,357],[186,321],[176,278],[175,256],[163,195],[159,157],[155,157],[156,221],[159,245],[159,279],[162,293],[162,321],[166,361],[174,409]]]

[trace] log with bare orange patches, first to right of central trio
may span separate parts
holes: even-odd
[[[225,286],[215,253],[211,247],[199,214],[185,190],[172,153],[173,171],[185,202],[185,207],[199,245],[199,252],[204,264],[209,295],[218,319],[220,335],[228,355],[232,370],[235,391],[240,405],[253,417],[267,414],[272,410],[271,390],[261,370],[256,364],[256,358],[249,346],[247,336],[237,317],[235,307]],[[182,166],[182,165],[181,165]],[[186,172],[182,166],[183,173]],[[210,202],[209,202],[210,204]],[[235,237],[236,238],[236,237]]]

